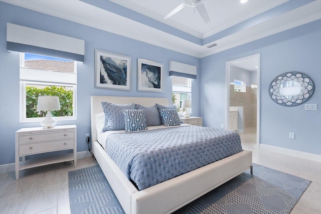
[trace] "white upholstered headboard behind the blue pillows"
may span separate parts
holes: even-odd
[[[152,106],[155,103],[161,105],[169,105],[170,102],[167,98],[155,97],[114,97],[114,96],[91,96],[90,97],[90,117],[91,117],[91,141],[97,140],[97,130],[95,115],[103,112],[101,101],[106,101],[115,104],[130,104],[136,103],[144,106]]]

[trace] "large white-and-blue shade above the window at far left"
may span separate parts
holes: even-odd
[[[7,50],[84,62],[85,41],[7,23]]]

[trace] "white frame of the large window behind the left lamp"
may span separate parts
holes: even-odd
[[[44,72],[47,76],[47,79],[54,81],[41,81],[41,78],[35,78],[32,80],[32,77],[25,78],[26,72],[33,72],[31,76],[37,75],[39,72]],[[73,88],[73,116],[62,116],[54,117],[55,120],[76,120],[77,119],[77,62],[74,61],[74,72],[59,72],[63,77],[50,78],[55,76],[59,71],[48,71],[48,70],[38,70],[32,68],[25,68],[25,53],[20,53],[20,122],[40,122],[43,120],[43,117],[32,117],[27,118],[27,109],[26,109],[26,86],[27,85],[42,85],[42,86],[58,86],[58,87],[71,87]],[[65,78],[64,78],[65,77]],[[63,81],[61,81],[63,80]],[[69,83],[68,83],[69,82]]]

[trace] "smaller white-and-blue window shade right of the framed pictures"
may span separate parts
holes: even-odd
[[[196,79],[196,66],[170,61],[170,76]]]

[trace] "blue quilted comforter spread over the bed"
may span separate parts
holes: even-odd
[[[139,190],[242,151],[238,133],[199,126],[113,133],[106,152]]]

